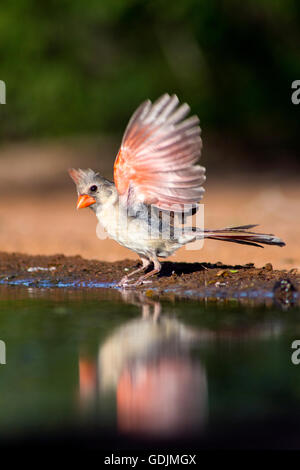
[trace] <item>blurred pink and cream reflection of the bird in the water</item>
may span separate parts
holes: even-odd
[[[200,430],[207,380],[190,351],[201,335],[143,294],[125,291],[122,298],[141,307],[142,315],[100,345],[97,364],[80,359],[82,404],[115,393],[117,427],[126,434],[170,438]]]

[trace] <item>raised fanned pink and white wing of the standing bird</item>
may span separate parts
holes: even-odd
[[[196,165],[201,154],[199,119],[185,117],[187,104],[165,94],[145,101],[125,130],[114,164],[118,192],[128,205],[153,204],[162,210],[196,204],[204,189],[205,168]]]

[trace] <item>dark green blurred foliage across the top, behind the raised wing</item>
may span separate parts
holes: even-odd
[[[299,26],[298,0],[2,0],[0,143],[121,135],[167,91],[208,135],[295,163]]]

